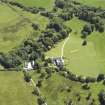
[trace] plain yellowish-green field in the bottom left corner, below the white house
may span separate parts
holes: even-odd
[[[0,90],[0,105],[37,105],[22,72],[0,71]]]

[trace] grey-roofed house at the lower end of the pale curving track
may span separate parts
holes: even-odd
[[[62,57],[56,57],[52,58],[52,62],[54,65],[56,65],[58,68],[63,68],[64,66],[64,59]]]

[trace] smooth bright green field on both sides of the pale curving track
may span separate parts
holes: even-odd
[[[74,18],[66,24],[73,29],[64,48],[66,67],[78,75],[97,76],[99,73],[105,73],[105,33],[92,33],[88,37],[88,45],[82,46],[83,39],[80,37],[80,31],[85,22]],[[63,43],[60,42],[46,55],[48,57],[60,56]]]

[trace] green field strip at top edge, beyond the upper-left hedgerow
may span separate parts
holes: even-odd
[[[55,0],[15,0],[15,1],[29,7],[43,7],[46,9],[52,9]]]

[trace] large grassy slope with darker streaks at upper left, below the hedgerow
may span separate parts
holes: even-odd
[[[0,4],[0,52],[10,51],[29,37],[34,32],[31,22],[40,24],[44,29],[48,20],[38,14]]]

